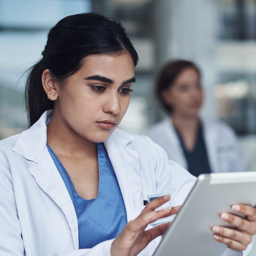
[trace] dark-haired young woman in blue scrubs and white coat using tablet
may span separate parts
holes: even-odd
[[[147,137],[116,129],[138,62],[124,28],[72,15],[42,55],[26,88],[31,127],[0,142],[1,256],[151,255],[168,224],[148,224],[177,213],[196,178]],[[172,208],[154,211],[170,195],[144,206],[161,193]],[[223,213],[238,229],[215,227],[214,239],[229,245],[225,255],[246,255],[255,209],[233,209],[247,219]]]

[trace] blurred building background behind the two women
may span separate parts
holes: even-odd
[[[156,71],[192,60],[203,73],[202,116],[235,129],[256,171],[256,0],[0,0],[0,139],[28,127],[22,75],[41,58],[49,29],[91,11],[120,20],[140,56],[121,128],[143,133],[162,119]]]

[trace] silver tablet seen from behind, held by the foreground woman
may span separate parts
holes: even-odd
[[[228,226],[222,212],[256,202],[256,172],[201,174],[167,229],[154,256],[222,256],[227,245],[213,239],[213,226]],[[236,213],[237,215],[237,213]]]

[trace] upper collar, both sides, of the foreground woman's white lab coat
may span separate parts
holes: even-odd
[[[46,150],[47,124],[52,116],[52,110],[45,111],[39,120],[28,130],[21,132],[12,151],[20,154],[27,160],[38,163]],[[116,129],[110,136],[121,145],[129,144],[134,136],[125,132],[125,136],[120,136],[123,131]]]

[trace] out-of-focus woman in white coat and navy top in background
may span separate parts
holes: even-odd
[[[195,176],[247,171],[235,132],[226,124],[199,117],[204,95],[201,73],[193,62],[168,62],[159,73],[156,95],[168,118],[146,134],[164,148],[169,159]]]

